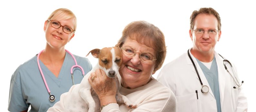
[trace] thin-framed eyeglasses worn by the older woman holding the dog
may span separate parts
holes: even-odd
[[[126,56],[126,57],[133,57],[136,55],[136,50],[130,46],[124,46],[121,47],[122,53]],[[154,58],[154,56],[148,52],[138,52],[140,55],[140,60],[142,60],[142,62],[144,63],[150,63],[152,61],[155,61],[156,59]]]

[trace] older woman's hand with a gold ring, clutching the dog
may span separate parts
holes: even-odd
[[[91,78],[95,76],[96,78]],[[88,78],[90,85],[99,97],[100,105],[117,102],[115,98],[117,91],[115,79],[116,78],[106,76],[106,73],[101,69],[92,72],[91,76]]]

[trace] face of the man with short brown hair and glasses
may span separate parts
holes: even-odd
[[[204,30],[203,34],[196,34],[196,29]],[[193,50],[201,53],[214,52],[215,44],[219,41],[221,31],[216,35],[209,35],[208,30],[218,30],[218,20],[215,16],[210,14],[198,14],[194,20],[193,30],[189,30],[189,35],[193,41]]]

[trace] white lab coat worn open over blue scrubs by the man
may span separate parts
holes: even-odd
[[[196,65],[202,83],[209,87],[208,93],[201,92],[202,85],[187,53],[166,64],[157,79],[174,92],[177,99],[177,112],[217,112],[216,100],[210,85],[196,59],[191,53],[190,55]],[[224,59],[216,52],[214,52],[214,56],[218,67],[221,111],[246,112],[247,99],[242,93],[242,87],[233,88],[233,86],[237,87],[237,85],[225,70]],[[241,81],[239,82],[241,84]]]

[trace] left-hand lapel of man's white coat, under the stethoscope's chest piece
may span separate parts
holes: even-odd
[[[191,49],[190,49],[190,50],[191,50]],[[200,78],[201,78],[201,81],[202,81],[203,85],[206,85],[206,86],[209,87],[209,93],[212,95],[213,98],[215,98],[214,95],[213,95],[213,92],[212,92],[212,90],[211,90],[211,88],[210,88],[210,85],[209,85],[209,83],[208,83],[206,77],[204,76],[204,73],[203,73],[202,69],[200,68],[199,64],[197,63],[195,57],[191,54],[190,50],[189,50],[190,56],[191,56],[192,60],[193,60],[194,63],[195,63],[195,66],[196,66],[196,68],[197,68],[198,74],[199,74],[199,76],[200,76]],[[192,63],[191,60],[189,59],[188,55],[187,55],[187,64],[192,66],[192,69],[191,69],[191,70],[192,70],[192,72],[194,72],[193,75],[196,76],[196,78],[198,79],[198,84],[200,84],[200,80],[199,80],[199,78],[198,78],[198,76],[197,76],[197,74],[196,74],[196,71],[195,71],[195,68],[194,68],[194,66],[193,66],[193,63]],[[201,84],[200,84],[200,86],[201,86]],[[202,86],[201,86],[201,88],[202,88]],[[200,88],[200,91],[201,91],[201,88]],[[206,94],[208,94],[208,93],[206,93]]]

